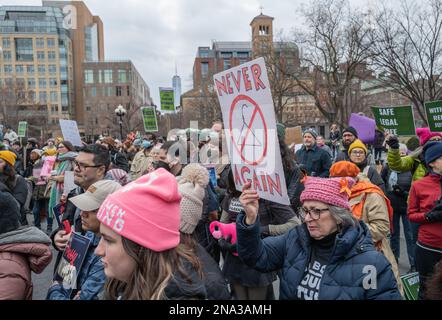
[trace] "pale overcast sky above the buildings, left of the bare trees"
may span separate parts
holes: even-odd
[[[104,24],[105,58],[130,59],[159,104],[158,87],[172,86],[175,63],[182,93],[192,88],[199,46],[250,41],[250,21],[260,13],[275,18],[274,30],[299,27],[305,0],[85,0]],[[367,6],[372,0],[350,0]],[[0,5],[41,5],[40,0],[0,0]],[[298,24],[298,25],[296,25]]]

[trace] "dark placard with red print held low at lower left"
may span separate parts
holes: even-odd
[[[72,232],[71,238],[63,252],[60,263],[54,274],[54,280],[63,283],[70,294],[77,289],[77,277],[86,257],[90,240],[79,233]],[[72,298],[72,297],[71,297]]]

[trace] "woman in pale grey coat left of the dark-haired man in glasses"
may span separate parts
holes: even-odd
[[[55,162],[55,175],[48,177],[51,193],[48,205],[48,217],[53,218],[52,208],[60,203],[60,198],[64,189],[64,174],[66,171],[74,170],[74,159],[77,153],[74,152],[74,146],[69,141],[62,141],[57,146],[57,160]],[[48,219],[49,221],[49,219]],[[48,234],[52,232],[52,226],[48,225]]]

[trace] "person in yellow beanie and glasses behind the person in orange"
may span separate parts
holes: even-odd
[[[350,158],[349,161],[356,164],[361,172],[364,173],[373,184],[377,185],[385,192],[384,180],[382,180],[376,168],[369,165],[367,160],[368,149],[361,140],[356,139],[348,147],[348,156]]]

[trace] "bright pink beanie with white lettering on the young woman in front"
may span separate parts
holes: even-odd
[[[161,168],[109,195],[97,218],[119,235],[161,252],[180,242],[180,200],[175,177]]]

